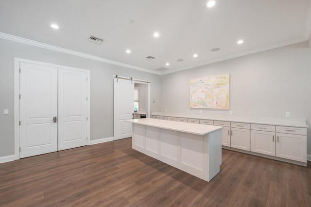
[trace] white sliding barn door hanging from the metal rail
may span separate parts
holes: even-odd
[[[134,83],[130,80],[114,79],[114,139],[132,137],[134,113]]]

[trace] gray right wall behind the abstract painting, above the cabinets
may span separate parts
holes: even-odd
[[[205,114],[306,119],[311,125],[311,48],[302,42],[162,76],[161,111],[190,109],[190,79],[230,73],[230,109]],[[308,129],[308,155],[311,130]]]

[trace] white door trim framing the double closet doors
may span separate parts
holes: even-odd
[[[34,60],[28,60],[28,59],[22,59],[22,58],[14,58],[14,149],[15,149],[15,160],[20,158],[19,155],[19,87],[20,87],[20,80],[19,80],[19,64],[20,62],[24,63],[31,63],[31,64],[37,64],[37,65],[44,65],[44,66],[50,66],[50,67],[56,67],[56,68],[63,68],[63,69],[72,69],[77,71],[87,71],[87,145],[90,145],[90,72],[87,69],[78,69],[78,68],[71,68],[67,66],[61,66],[51,63],[44,63]]]

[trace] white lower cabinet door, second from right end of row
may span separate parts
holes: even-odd
[[[251,151],[264,155],[276,155],[276,133],[252,130]]]

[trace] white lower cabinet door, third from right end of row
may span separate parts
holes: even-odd
[[[231,147],[251,151],[251,130],[231,128]]]

